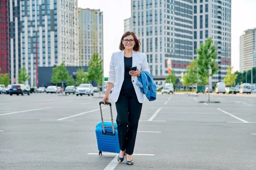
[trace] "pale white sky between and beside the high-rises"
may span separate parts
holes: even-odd
[[[131,17],[131,0],[78,0],[79,8],[103,11],[104,77],[108,77],[113,52],[119,51],[124,33],[123,20]],[[243,31],[256,28],[256,0],[232,0],[231,4],[231,65],[239,70],[239,37]]]

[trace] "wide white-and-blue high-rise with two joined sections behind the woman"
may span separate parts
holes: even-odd
[[[131,0],[131,20],[157,84],[170,68],[181,77],[207,37],[218,45],[220,70],[212,81],[224,78],[231,64],[231,0]]]

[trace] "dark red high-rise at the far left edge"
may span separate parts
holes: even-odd
[[[0,0],[0,68],[9,74],[8,0]]]

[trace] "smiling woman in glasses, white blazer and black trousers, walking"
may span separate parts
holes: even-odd
[[[119,49],[112,54],[108,85],[103,102],[108,102],[111,89],[111,100],[116,103],[116,123],[120,153],[117,160],[122,162],[126,156],[126,164],[132,165],[132,154],[137,135],[137,128],[144,100],[144,94],[136,85],[140,71],[150,73],[146,54],[140,53],[140,41],[134,32],[127,31],[123,34]],[[131,71],[131,67],[137,67]]]

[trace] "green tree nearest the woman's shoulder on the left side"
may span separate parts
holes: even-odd
[[[103,78],[103,60],[99,58],[98,53],[94,53],[92,59],[88,62],[88,79],[89,81],[95,80],[98,87],[102,86]],[[102,89],[103,86],[102,86]],[[99,92],[100,96],[100,92]]]

